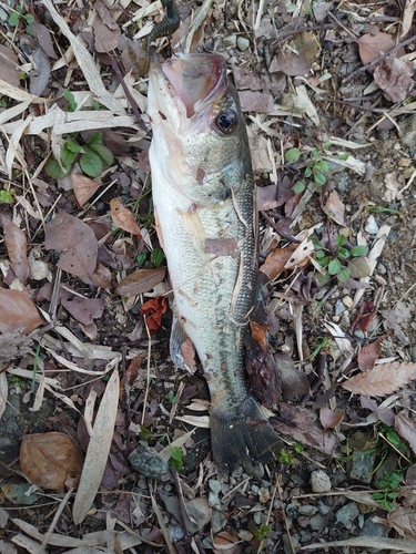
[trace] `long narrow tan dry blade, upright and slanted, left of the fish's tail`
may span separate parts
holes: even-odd
[[[119,371],[115,369],[108,382],[97,413],[93,433],[88,447],[80,485],[73,504],[73,521],[81,523],[99,490],[113,438],[119,404]]]

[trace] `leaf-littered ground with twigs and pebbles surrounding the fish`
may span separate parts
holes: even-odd
[[[180,3],[158,44],[225,58],[258,189],[283,445],[222,479],[131,61],[163,10],[1,3],[0,552],[416,552],[415,9]]]

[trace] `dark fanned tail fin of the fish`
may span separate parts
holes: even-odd
[[[251,396],[236,411],[212,408],[210,420],[214,462],[221,474],[237,465],[251,473],[253,462],[271,461],[280,449],[277,433]]]

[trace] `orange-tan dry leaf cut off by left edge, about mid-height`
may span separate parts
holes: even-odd
[[[19,329],[28,334],[43,324],[38,308],[23,293],[0,288],[0,332]]]

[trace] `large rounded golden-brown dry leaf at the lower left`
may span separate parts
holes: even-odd
[[[72,489],[80,481],[84,455],[63,433],[23,434],[20,465],[24,475],[43,489]]]

